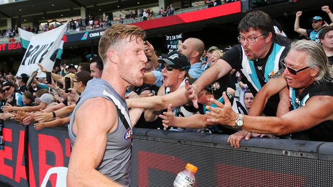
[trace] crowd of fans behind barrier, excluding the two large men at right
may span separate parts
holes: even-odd
[[[167,14],[169,15],[174,11],[169,11],[170,9],[173,9],[172,5],[168,9]],[[161,13],[165,13],[162,10]],[[322,10],[328,14],[330,22],[332,22],[333,15],[329,7],[324,6]],[[139,11],[138,15],[144,12]],[[137,13],[133,13],[133,16],[135,14]],[[129,15],[129,17],[131,16],[132,14]],[[297,12],[295,31],[304,35],[305,37],[302,38],[304,40],[319,42],[328,57],[329,66],[332,66],[332,24],[329,25],[321,17],[315,16],[311,19],[313,29],[305,30],[299,28],[300,16],[301,12]],[[103,24],[109,21],[108,19],[101,20],[102,25],[100,25],[99,21],[95,24],[92,18],[88,18],[88,20],[89,27],[95,27],[95,25],[96,27],[97,25],[104,27]],[[69,27],[71,29],[82,28],[85,25],[84,22],[81,19],[72,20]],[[255,43],[260,36],[256,38],[240,36],[238,41],[243,43],[247,40],[248,43]],[[283,36],[277,35],[275,37],[288,41],[288,38]],[[210,98],[222,103],[225,102],[222,98],[223,91],[227,92],[227,98],[235,112],[247,114],[251,111],[257,91],[254,91],[254,86],[248,82],[246,75],[237,72],[236,68],[226,72],[225,76],[213,81],[204,88],[203,92],[200,92],[197,96],[199,107],[195,107],[194,103],[192,105],[189,98],[181,97],[188,93],[189,89],[186,87],[190,87],[190,84],[195,82],[207,69],[214,67],[219,59],[231,58],[230,54],[235,53],[235,48],[236,45],[234,47],[228,46],[223,50],[216,46],[205,48],[202,40],[188,38],[179,41],[178,51],[171,52],[162,58],[155,53],[154,46],[146,41],[145,54],[148,57],[148,63],[145,64],[144,84],[140,87],[129,87],[126,95],[128,106],[131,108],[132,126],[204,133],[239,133],[235,129],[207,123],[206,118],[202,115],[208,111],[206,111],[205,106],[214,105]],[[248,52],[243,51],[243,53]],[[48,72],[41,64],[38,66],[41,72]],[[289,72],[292,71],[290,70],[292,68],[287,68]],[[0,89],[3,113],[0,114],[0,119],[15,119],[24,125],[34,122],[36,130],[67,124],[75,103],[79,100],[80,93],[84,91],[90,79],[100,78],[102,71],[102,60],[97,56],[92,58],[90,63],[80,63],[78,68],[75,68],[73,64],[55,66],[51,74],[52,82],[47,82],[45,78],[36,78],[37,72],[32,75],[22,74],[18,77],[11,74],[3,75]],[[64,87],[65,78],[71,80],[71,88],[68,91]],[[235,98],[235,83],[239,84],[239,99]],[[160,97],[149,97],[152,95]],[[169,105],[175,102],[179,104],[177,107]],[[161,105],[161,103],[165,105]],[[267,113],[265,114],[267,115]],[[252,135],[262,136],[261,134]]]

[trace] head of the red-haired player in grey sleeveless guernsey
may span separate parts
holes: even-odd
[[[141,86],[143,83],[145,31],[137,26],[114,24],[99,40],[98,53],[103,61],[106,77],[117,76],[124,86]]]

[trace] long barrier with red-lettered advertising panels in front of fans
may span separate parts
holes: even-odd
[[[188,162],[199,168],[196,186],[333,186],[333,143],[252,138],[236,149],[227,137],[134,129],[131,186],[172,186]],[[0,181],[13,186],[65,181],[71,151],[66,128],[36,131],[5,121],[4,141]]]

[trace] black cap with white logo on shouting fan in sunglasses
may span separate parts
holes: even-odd
[[[172,51],[168,54],[168,58],[158,59],[159,63],[166,63],[174,69],[181,69],[182,71],[189,70],[191,67],[190,60],[185,55]]]

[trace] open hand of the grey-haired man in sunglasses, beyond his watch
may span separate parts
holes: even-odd
[[[223,125],[235,126],[235,120],[237,119],[238,114],[233,111],[231,103],[226,96],[225,91],[223,91],[224,105],[219,101],[211,98],[212,101],[217,107],[206,106],[206,114],[212,116],[206,121],[210,123],[219,123]]]

